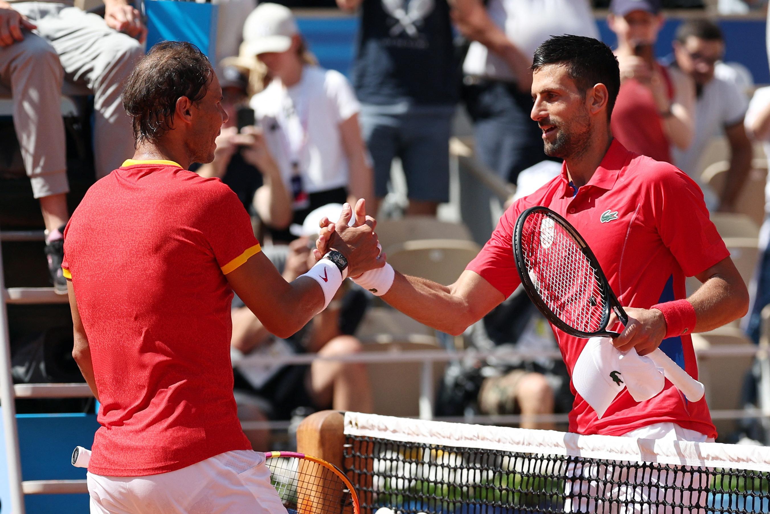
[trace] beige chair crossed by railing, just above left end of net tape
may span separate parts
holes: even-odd
[[[364,344],[364,352],[408,352],[440,350],[437,344],[390,342]],[[433,366],[434,391],[444,375],[445,362]],[[420,414],[420,373],[422,362],[369,363],[367,375],[372,385],[374,412],[390,416],[417,416]]]

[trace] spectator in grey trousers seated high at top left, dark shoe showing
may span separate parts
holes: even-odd
[[[40,201],[45,254],[59,294],[67,294],[62,232],[69,219],[62,82],[85,85],[94,95],[97,177],[134,152],[120,93],[142,55],[147,30],[127,0],[104,3],[102,19],[73,7],[71,0],[0,0],[0,82],[12,91],[13,123],[32,194]]]

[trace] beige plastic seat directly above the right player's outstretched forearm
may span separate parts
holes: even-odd
[[[387,248],[387,261],[403,274],[454,284],[481,247],[473,241],[413,240]]]

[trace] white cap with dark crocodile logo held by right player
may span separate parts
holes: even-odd
[[[665,378],[636,349],[621,353],[609,338],[591,338],[572,368],[572,384],[601,418],[624,388],[634,401],[647,401],[663,391]]]

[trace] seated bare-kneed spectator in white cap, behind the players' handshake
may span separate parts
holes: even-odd
[[[287,280],[307,272],[316,260],[310,252],[324,216],[339,217],[340,204],[314,210],[303,223],[302,236],[263,251]],[[335,218],[336,219],[336,218]],[[289,419],[297,408],[372,412],[366,368],[360,363],[315,361],[312,365],[265,365],[265,355],[318,353],[325,357],[360,351],[353,337],[367,307],[360,287],[341,287],[326,310],[288,339],[276,338],[236,297],[233,301],[232,353],[235,398],[242,421]],[[263,431],[246,431],[255,449],[266,449]]]

